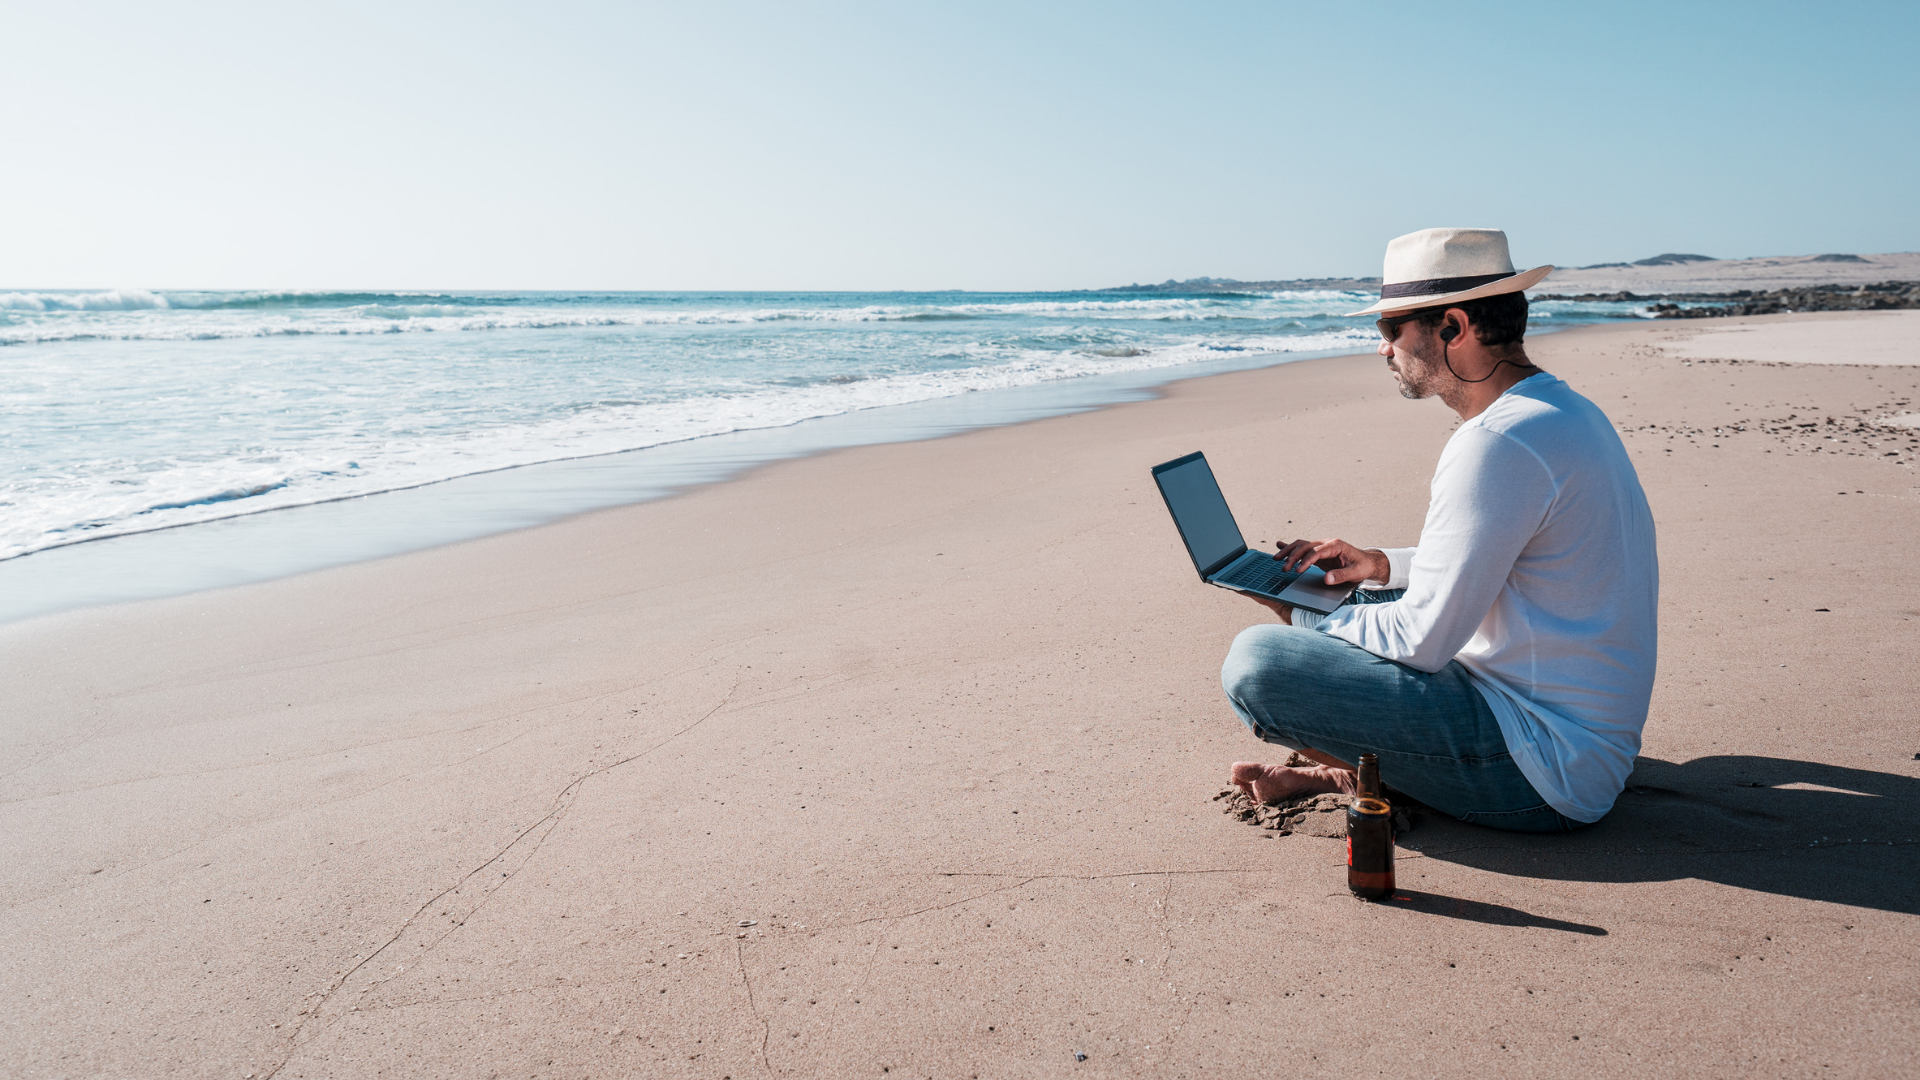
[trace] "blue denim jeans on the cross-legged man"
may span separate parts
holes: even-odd
[[[1400,596],[1359,590],[1354,603]],[[1584,824],[1521,774],[1459,661],[1428,675],[1319,630],[1267,623],[1233,640],[1219,680],[1261,740],[1350,765],[1379,755],[1380,782],[1461,821],[1513,832]]]

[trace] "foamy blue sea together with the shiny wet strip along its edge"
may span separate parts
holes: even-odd
[[[1371,352],[1365,292],[0,292],[0,621]],[[1644,315],[1536,302],[1534,332]],[[1144,467],[1144,465],[1142,465]]]

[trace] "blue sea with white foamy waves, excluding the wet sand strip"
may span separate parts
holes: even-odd
[[[0,342],[23,346],[8,354],[21,394],[0,561],[895,404],[1129,382],[1369,336],[1332,315],[1352,298],[1331,292],[106,300],[0,327]],[[202,423],[207,413],[221,423]]]

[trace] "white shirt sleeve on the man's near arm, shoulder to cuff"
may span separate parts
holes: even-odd
[[[1434,471],[1419,548],[1388,552],[1407,594],[1350,603],[1319,630],[1419,671],[1440,671],[1480,628],[1515,559],[1553,505],[1553,477],[1524,446],[1484,427],[1461,429]]]

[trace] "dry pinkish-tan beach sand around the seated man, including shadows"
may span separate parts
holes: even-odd
[[[1369,905],[1336,842],[1210,801],[1273,749],[1217,680],[1263,613],[1194,578],[1148,465],[1204,448],[1269,546],[1413,542],[1453,421],[1306,361],[0,626],[0,1061],[1914,1074],[1920,486],[1786,419],[1920,369],[1663,352],[1690,332],[1534,344],[1661,530],[1597,826],[1428,819]]]

